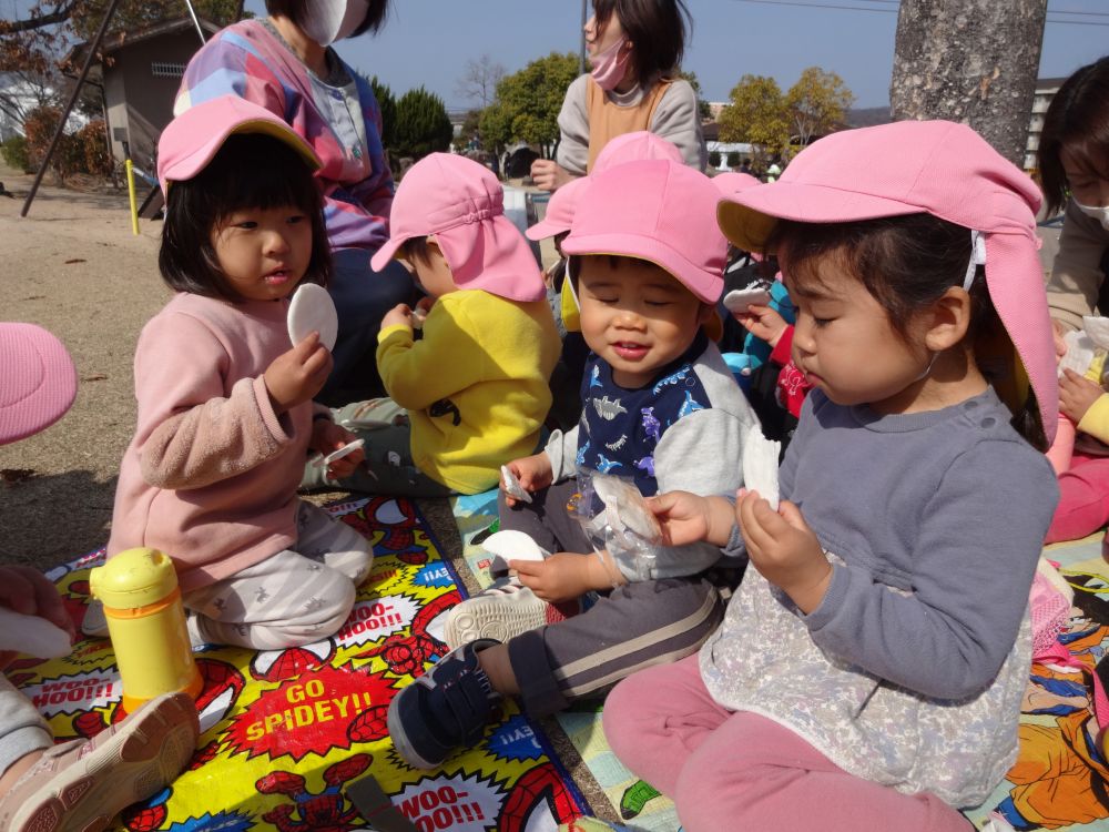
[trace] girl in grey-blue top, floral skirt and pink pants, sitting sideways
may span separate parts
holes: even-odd
[[[653,504],[673,544],[750,559],[700,653],[604,711],[689,832],[966,830],[1016,759],[1058,495],[1038,206],[949,122],[834,133],[721,203],[777,254],[814,389],[767,493]]]

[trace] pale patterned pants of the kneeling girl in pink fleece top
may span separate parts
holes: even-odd
[[[230,578],[182,593],[194,645],[279,650],[333,635],[369,575],[369,541],[311,503],[296,515],[296,550],[283,549]]]

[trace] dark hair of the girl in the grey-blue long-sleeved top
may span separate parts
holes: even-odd
[[[891,327],[906,343],[914,315],[948,288],[963,285],[971,254],[969,229],[926,213],[847,223],[780,220],[765,245],[777,255],[791,288],[822,283],[821,264],[831,258],[878,302]],[[986,287],[984,266],[977,267],[969,294],[970,325],[964,341],[975,345],[998,339],[1009,343]],[[975,357],[990,384],[1000,386],[997,371],[977,349]],[[1047,450],[1030,387],[1015,410],[1013,427],[1032,447]]]

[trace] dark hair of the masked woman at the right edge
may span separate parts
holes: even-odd
[[[1067,201],[1064,150],[1089,173],[1109,179],[1109,57],[1076,70],[1044,115],[1037,159],[1049,214]]]

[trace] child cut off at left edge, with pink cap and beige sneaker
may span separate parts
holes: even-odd
[[[64,415],[77,395],[73,362],[45,329],[0,324],[0,445],[6,445]],[[30,567],[0,566],[0,606],[73,635],[57,588]],[[16,657],[11,648],[26,643],[19,632],[0,633],[0,669]],[[121,810],[185,768],[199,733],[190,697],[171,693],[93,740],[55,745],[31,700],[0,673],[0,829],[108,829]]]

